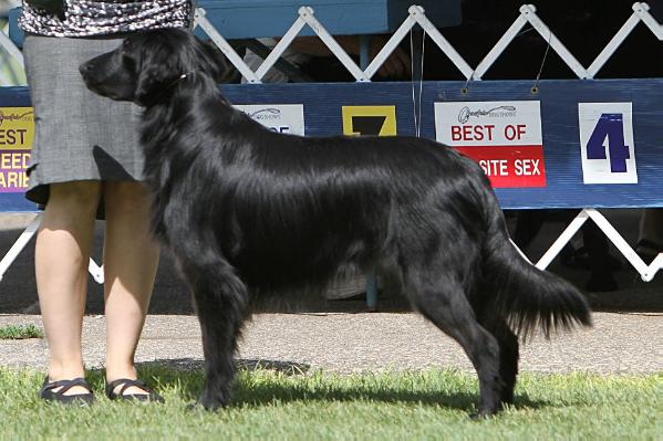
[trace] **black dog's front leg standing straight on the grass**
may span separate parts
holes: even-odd
[[[180,260],[180,264],[194,291],[203,332],[205,389],[198,402],[214,410],[230,400],[235,377],[232,357],[247,316],[248,293],[234,269],[221,259],[204,264]]]

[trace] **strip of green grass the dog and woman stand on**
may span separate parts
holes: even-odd
[[[516,403],[473,421],[476,378],[450,370],[338,376],[244,370],[218,412],[188,410],[200,372],[141,369],[166,405],[102,396],[71,408],[37,398],[43,372],[0,368],[2,440],[662,440],[663,372],[649,376],[522,375]]]

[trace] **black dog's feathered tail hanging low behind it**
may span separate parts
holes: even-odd
[[[490,203],[489,203],[490,204]],[[539,328],[546,338],[553,330],[590,326],[584,296],[569,282],[527,262],[510,242],[504,216],[495,201],[485,243],[485,276],[495,292],[495,308],[524,338]]]

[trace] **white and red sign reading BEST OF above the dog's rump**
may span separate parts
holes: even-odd
[[[546,187],[538,101],[435,103],[435,137],[476,160],[494,187]]]

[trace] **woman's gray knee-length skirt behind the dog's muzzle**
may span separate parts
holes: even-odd
[[[121,42],[25,38],[23,56],[35,116],[28,199],[45,204],[49,185],[55,182],[142,179],[137,132],[142,109],[90,92],[79,73],[81,63]]]

